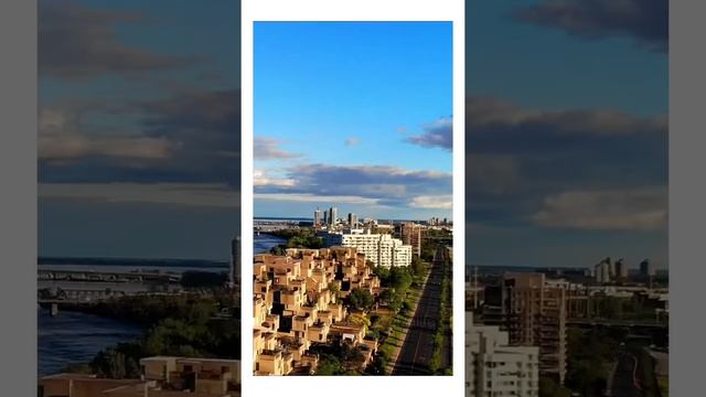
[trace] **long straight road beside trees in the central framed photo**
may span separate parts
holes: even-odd
[[[443,247],[437,248],[427,285],[415,311],[405,343],[399,352],[393,375],[430,375],[429,361],[434,353],[434,334],[441,312],[441,280],[443,278]]]

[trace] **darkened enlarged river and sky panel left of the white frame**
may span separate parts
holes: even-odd
[[[39,2],[40,395],[239,394],[239,20]]]

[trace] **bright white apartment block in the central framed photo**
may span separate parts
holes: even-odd
[[[350,229],[344,233],[328,233],[324,236],[328,247],[353,247],[365,254],[365,259],[375,266],[393,267],[411,265],[411,246],[388,234],[371,234],[370,230]]]

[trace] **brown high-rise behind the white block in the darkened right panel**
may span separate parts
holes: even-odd
[[[566,285],[543,273],[505,273],[486,287],[483,322],[499,325],[510,345],[538,346],[539,373],[564,383],[566,376]]]

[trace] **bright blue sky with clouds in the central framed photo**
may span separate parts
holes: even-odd
[[[256,216],[451,216],[450,23],[256,23],[254,61]]]

